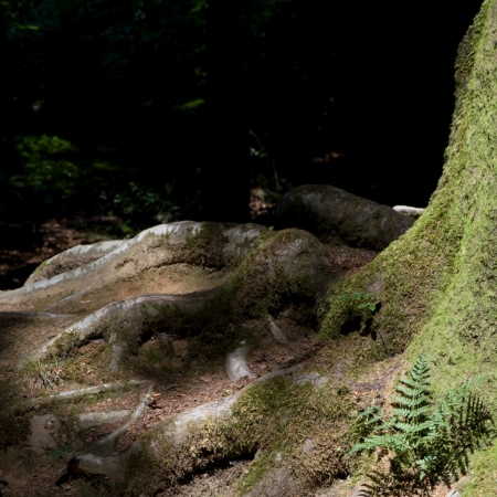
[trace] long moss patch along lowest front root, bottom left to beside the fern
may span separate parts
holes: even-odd
[[[353,444],[349,426],[357,410],[346,388],[298,385],[278,378],[248,388],[233,406],[229,419],[208,419],[191,424],[182,443],[175,447],[167,429],[158,425],[142,435],[130,455],[126,474],[129,494],[158,491],[178,485],[194,472],[221,464],[230,457],[257,453],[239,495],[247,493],[275,467],[277,452],[314,487],[350,470],[348,452]],[[310,440],[310,448],[303,445]]]

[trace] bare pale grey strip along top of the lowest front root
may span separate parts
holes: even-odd
[[[198,408],[190,409],[188,411],[178,414],[171,419],[161,421],[156,426],[156,435],[154,438],[138,440],[135,442],[130,450],[124,454],[115,455],[110,454],[108,456],[102,456],[97,451],[85,451],[84,454],[76,454],[67,465],[68,472],[72,474],[97,474],[106,475],[112,477],[123,477],[124,467],[128,457],[135,452],[142,453],[145,450],[152,459],[161,458],[161,448],[158,444],[158,440],[161,442],[167,442],[171,446],[179,448],[188,438],[189,431],[193,425],[200,425],[209,419],[228,419],[231,413],[233,405],[240,398],[240,395],[253,384],[258,382],[264,382],[278,377],[287,377],[289,381],[295,381],[297,383],[304,382],[303,378],[307,377],[308,373],[303,372],[302,366],[295,366],[287,369],[279,369],[273,371],[264,377],[258,378],[253,381],[250,385],[245,387],[241,391],[219,399],[214,402],[210,402]],[[315,373],[318,376],[317,373]],[[313,377],[314,378],[314,377]],[[315,380],[316,381],[316,380]],[[326,379],[324,379],[326,381]],[[158,430],[157,430],[158,427]],[[231,458],[236,458],[244,454],[231,454]]]

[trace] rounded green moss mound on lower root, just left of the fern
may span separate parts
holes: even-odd
[[[279,464],[276,453],[309,487],[348,473],[353,443],[349,425],[355,415],[356,404],[343,388],[316,390],[310,383],[278,378],[247,389],[224,426],[229,440],[239,444],[234,448],[256,448],[260,454],[239,493],[248,491]],[[311,441],[308,452],[303,451],[306,441]]]

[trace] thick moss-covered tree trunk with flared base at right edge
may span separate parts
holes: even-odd
[[[450,145],[429,208],[321,308],[322,336],[339,336],[350,309],[337,297],[373,293],[381,307],[366,331],[378,337],[377,357],[408,346],[411,359],[425,353],[440,391],[497,366],[496,76],[497,1],[486,0],[459,45]],[[495,388],[487,394],[497,408]]]

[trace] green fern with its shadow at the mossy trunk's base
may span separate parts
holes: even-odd
[[[430,495],[440,482],[467,470],[467,454],[488,441],[493,419],[472,387],[482,377],[467,381],[435,404],[430,387],[430,367],[420,357],[408,378],[402,378],[392,395],[392,415],[370,406],[357,419],[362,438],[351,453],[377,451],[388,459],[388,470],[369,475],[369,495]]]

